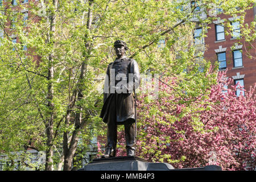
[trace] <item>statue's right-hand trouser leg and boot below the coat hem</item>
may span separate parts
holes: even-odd
[[[125,124],[125,140],[127,156],[135,156],[136,138],[135,138],[135,123]]]

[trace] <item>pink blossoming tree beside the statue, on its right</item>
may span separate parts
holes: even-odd
[[[157,100],[139,94],[137,156],[175,168],[255,169],[255,86],[237,97],[239,85],[225,89],[232,81],[224,78],[219,72],[217,84],[195,100],[177,97],[172,77],[160,80]],[[118,136],[117,155],[125,155],[123,132]]]

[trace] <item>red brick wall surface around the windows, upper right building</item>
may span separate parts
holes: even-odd
[[[227,17],[224,15],[220,15],[220,19],[227,19],[231,17]],[[250,24],[254,20],[254,10],[248,10],[246,17],[245,17],[245,23]],[[227,76],[229,78],[232,78],[232,76],[236,76],[237,72],[240,72],[240,75],[245,75],[244,79],[244,84],[245,84],[245,89],[249,90],[250,86],[254,86],[255,81],[256,81],[256,59],[255,59],[255,49],[251,48],[249,49],[249,44],[245,43],[244,40],[240,40],[241,43],[238,43],[238,45],[243,45],[242,46],[242,61],[243,61],[243,68],[237,68],[234,69],[233,65],[233,54],[232,54],[232,47],[234,43],[238,42],[238,40],[230,40],[232,37],[231,35],[226,35],[225,34],[225,41],[223,42],[216,42],[216,32],[215,32],[215,26],[213,23],[209,24],[209,29],[207,32],[207,37],[205,38],[205,44],[207,47],[207,51],[205,51],[205,59],[210,60],[212,62],[217,61],[217,56],[216,52],[214,49],[218,49],[219,46],[222,46],[222,48],[226,47],[226,66],[227,66]],[[226,31],[226,28],[225,28]],[[255,42],[253,43],[254,47]],[[246,52],[250,52],[250,55],[253,56],[253,58],[250,58],[246,56]],[[233,68],[233,69],[232,69]],[[234,82],[232,83],[234,84]],[[229,86],[230,87],[230,86]]]

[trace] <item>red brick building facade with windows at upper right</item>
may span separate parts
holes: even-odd
[[[256,7],[247,10],[243,24],[253,22],[255,14]],[[218,16],[218,20],[208,25],[210,28],[207,30],[207,37],[204,38],[207,47],[204,57],[212,63],[218,61],[219,70],[227,71],[227,76],[234,80],[233,85],[239,81],[245,90],[249,90],[250,86],[254,86],[256,82],[255,41],[253,47],[249,48],[249,43],[246,43],[242,38],[237,39],[240,36],[239,18],[239,15],[230,17],[221,14]],[[226,22],[224,22],[224,19],[226,19]],[[233,28],[231,35],[227,35],[228,28],[222,26],[222,23],[227,22],[230,22]],[[247,56],[248,54],[252,57]],[[230,85],[228,87],[230,88]],[[241,94],[243,94],[242,91]],[[240,95],[239,90],[237,95]]]

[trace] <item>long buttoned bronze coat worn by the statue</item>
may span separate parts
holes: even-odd
[[[110,69],[112,69],[112,71]],[[133,73],[132,80],[129,80],[129,73]],[[122,75],[120,80],[113,79],[113,77],[115,76],[114,78],[116,78],[118,74],[124,75]],[[110,79],[111,77],[112,79]],[[127,80],[127,93],[110,93],[110,90],[113,90],[111,87],[117,86],[118,82],[123,79]],[[114,80],[114,82],[112,82],[112,80]],[[139,67],[134,59],[124,57],[122,59],[115,59],[113,63],[109,64],[104,85],[104,105],[100,114],[103,122],[110,122],[110,119],[108,119],[110,118],[109,115],[116,115],[116,122],[118,124],[122,124],[127,121],[127,119],[133,122],[135,121],[135,101],[133,91],[134,88],[137,89],[138,86]]]

